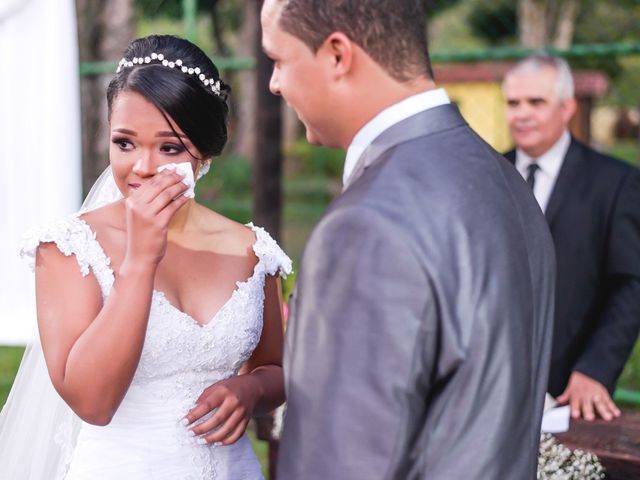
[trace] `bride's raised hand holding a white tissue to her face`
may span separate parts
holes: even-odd
[[[125,201],[127,249],[125,258],[158,264],[167,249],[167,231],[173,215],[189,198],[182,176],[164,170],[133,191]]]

